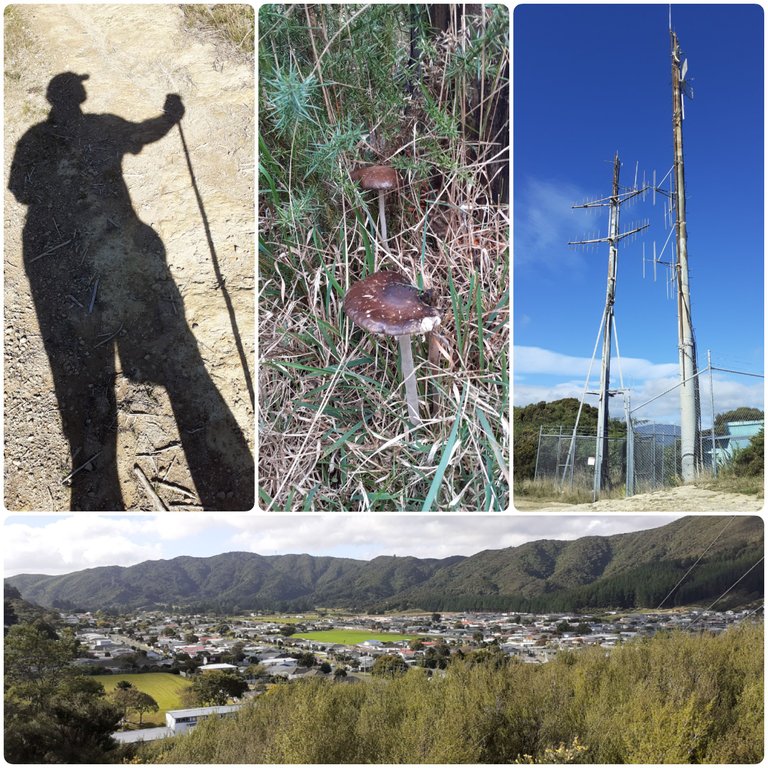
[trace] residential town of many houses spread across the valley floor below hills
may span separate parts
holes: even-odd
[[[597,616],[569,614],[455,613],[407,616],[286,615],[266,620],[250,617],[140,613],[119,621],[92,613],[65,615],[76,628],[83,656],[77,664],[103,673],[172,669],[246,670],[261,664],[271,676],[296,679],[307,674],[296,658],[310,652],[332,670],[367,672],[382,654],[401,656],[419,666],[430,647],[453,651],[497,645],[528,663],[544,663],[562,649],[600,645],[605,648],[660,630],[719,633],[752,614],[742,611],[608,612]],[[282,619],[282,620],[281,620]],[[287,629],[286,629],[287,628]],[[391,634],[391,640],[367,639],[354,644],[321,642],[312,633],[329,630]],[[402,636],[419,636],[419,642]]]

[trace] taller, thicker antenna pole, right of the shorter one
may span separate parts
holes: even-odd
[[[699,429],[699,379],[696,367],[696,340],[691,319],[691,292],[688,283],[688,230],[685,218],[685,170],[683,165],[683,97],[688,90],[685,74],[688,60],[680,63],[680,44],[670,25],[672,41],[672,131],[674,140],[675,236],[677,240],[677,321],[680,354],[680,461],[683,482],[696,476]]]

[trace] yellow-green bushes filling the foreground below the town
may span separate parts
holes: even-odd
[[[763,755],[763,628],[671,633],[548,664],[454,661],[276,686],[231,720],[142,747],[169,763],[749,763]]]

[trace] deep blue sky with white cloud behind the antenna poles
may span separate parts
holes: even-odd
[[[672,165],[669,6],[519,5],[513,15],[514,374],[516,405],[579,397],[605,303],[608,209],[572,210]],[[693,100],[683,124],[688,252],[699,367],[763,372],[763,10],[673,5]],[[668,188],[668,182],[665,184]],[[616,324],[632,405],[677,380],[676,304],[664,270],[642,275],[642,247],[661,251],[664,198],[622,206]],[[671,255],[667,246],[664,259]],[[615,350],[614,350],[615,351]],[[600,349],[593,369],[599,372]],[[612,367],[612,386],[618,371]],[[706,382],[708,391],[709,382]],[[716,411],[762,407],[760,379],[716,374]],[[596,398],[588,400],[595,404]],[[621,404],[612,399],[612,415]],[[677,420],[677,397],[648,409]],[[614,409],[616,411],[614,412]],[[708,420],[703,417],[706,426]]]

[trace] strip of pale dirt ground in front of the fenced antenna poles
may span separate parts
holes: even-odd
[[[516,497],[515,509],[538,512],[757,512],[765,502],[742,493],[708,491],[695,486],[667,488],[654,493],[640,493],[628,499],[611,499],[594,504],[561,504],[546,500]]]

